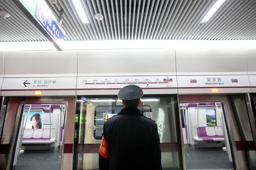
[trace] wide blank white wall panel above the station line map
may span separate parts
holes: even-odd
[[[78,77],[176,75],[174,49],[78,51]]]

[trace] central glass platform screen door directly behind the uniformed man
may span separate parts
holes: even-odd
[[[158,127],[163,169],[180,168],[182,154],[177,139],[180,136],[176,127],[179,113],[177,96],[144,95],[141,101],[139,109],[144,116],[154,120]],[[74,139],[75,169],[99,169],[99,144],[104,122],[118,114],[122,108],[122,100],[117,96],[78,96]]]

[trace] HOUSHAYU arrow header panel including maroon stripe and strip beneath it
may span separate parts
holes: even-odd
[[[3,78],[3,96],[71,96],[76,95],[76,77]]]

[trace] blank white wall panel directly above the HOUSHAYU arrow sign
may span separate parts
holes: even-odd
[[[4,77],[76,77],[77,51],[9,51]]]

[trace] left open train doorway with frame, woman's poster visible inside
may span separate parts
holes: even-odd
[[[63,169],[64,167],[71,168],[73,154],[67,152],[69,148],[67,148],[66,145],[70,145],[70,143],[73,142],[75,108],[76,96],[9,97],[8,106],[6,108],[6,118],[3,126],[3,138],[0,143],[0,148],[3,148],[3,150],[1,150],[3,154],[0,154],[0,169],[12,170],[17,168],[18,164],[16,164],[16,162],[19,162],[18,159],[21,159],[21,157],[18,157],[20,149],[22,148],[20,147],[21,142],[22,144],[24,141],[25,143],[28,143],[31,142],[31,140],[35,140],[35,138],[37,138],[36,142],[26,145],[27,148],[30,147],[31,149],[25,150],[24,154],[20,155],[23,156],[26,154],[27,156],[23,156],[23,161],[20,161],[22,164],[19,164],[19,168],[25,167],[28,169],[27,167],[31,165],[33,162],[32,160],[37,158],[37,164],[41,164],[41,166],[47,167],[48,169],[52,169],[53,167],[58,169]],[[38,125],[38,128],[26,128],[25,122],[27,122],[27,124],[28,122],[31,122],[32,117],[35,116],[35,113],[38,114],[39,109],[42,110],[42,127],[39,128]],[[53,118],[51,118],[51,116]],[[46,123],[48,117],[49,123]],[[43,124],[45,127],[43,127]],[[30,125],[32,125],[32,122]],[[23,140],[25,138],[26,130],[33,131],[30,135],[32,138],[30,137],[28,139],[26,137],[26,140]],[[40,132],[42,133],[39,134]],[[38,134],[41,137],[36,137]],[[71,144],[73,145],[73,143]],[[63,145],[64,148],[62,149]],[[45,164],[45,160],[49,157],[51,157],[51,159],[55,158],[56,161],[53,161],[54,164],[51,164],[50,162]]]

